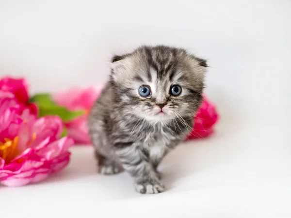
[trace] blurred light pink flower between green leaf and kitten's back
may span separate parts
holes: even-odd
[[[73,87],[65,92],[56,93],[53,100],[61,106],[70,110],[84,110],[84,115],[70,122],[65,122],[67,134],[73,138],[76,143],[90,144],[91,140],[88,134],[87,116],[92,108],[94,101],[97,99],[101,91],[100,88],[89,87],[79,88]]]

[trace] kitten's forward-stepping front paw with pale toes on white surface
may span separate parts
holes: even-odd
[[[157,194],[164,191],[164,186],[159,181],[136,182],[135,190],[141,194]]]

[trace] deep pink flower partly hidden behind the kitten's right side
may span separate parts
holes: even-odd
[[[201,139],[209,136],[213,133],[218,118],[215,106],[203,95],[203,102],[194,117],[193,130],[186,139]]]

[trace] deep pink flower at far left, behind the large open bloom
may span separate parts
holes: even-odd
[[[0,91],[6,93],[13,93],[17,101],[26,105],[32,113],[37,114],[38,109],[35,104],[29,104],[28,83],[24,78],[10,78],[4,77],[0,79]]]

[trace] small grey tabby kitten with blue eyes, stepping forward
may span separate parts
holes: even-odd
[[[175,47],[114,56],[88,119],[99,172],[128,171],[140,193],[164,190],[157,167],[185,138],[202,101],[206,61]]]

